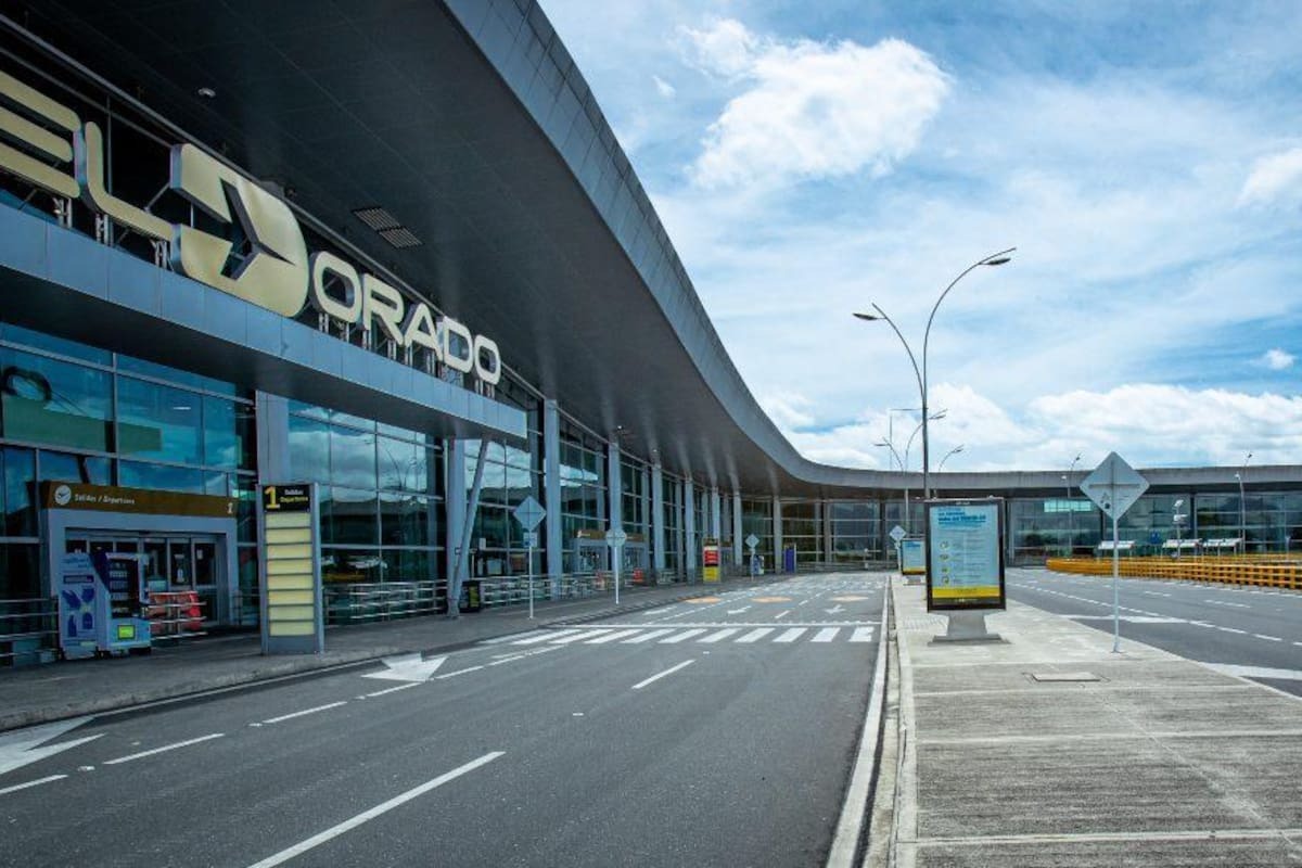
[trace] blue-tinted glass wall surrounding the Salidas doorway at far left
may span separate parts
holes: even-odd
[[[57,480],[238,498],[238,582],[256,618],[250,393],[8,323],[0,380],[0,599],[40,593],[36,491]]]

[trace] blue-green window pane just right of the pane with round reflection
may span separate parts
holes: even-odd
[[[198,465],[202,397],[194,392],[120,377],[117,450],[125,455]]]

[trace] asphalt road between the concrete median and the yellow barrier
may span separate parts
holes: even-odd
[[[1112,576],[1008,570],[1009,599],[1112,632]],[[1120,582],[1120,634],[1302,696],[1302,593]]]

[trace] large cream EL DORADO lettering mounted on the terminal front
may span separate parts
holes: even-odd
[[[13,111],[16,109],[16,111]],[[78,199],[95,213],[165,246],[173,269],[283,316],[305,305],[319,314],[372,332],[401,350],[423,349],[453,371],[484,385],[501,380],[497,344],[450,316],[435,316],[424,302],[326,251],[309,254],[293,211],[199,147],[171,150],[168,189],[221,225],[238,226],[251,254],[233,272],[234,242],[194,225],[169,223],[118,199],[105,186],[104,135],[66,105],[0,72],[0,169],[62,199]],[[7,144],[13,142],[17,147]],[[240,234],[240,233],[236,233]]]

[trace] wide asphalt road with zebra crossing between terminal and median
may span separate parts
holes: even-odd
[[[798,578],[7,734],[0,865],[822,865],[881,601]]]

